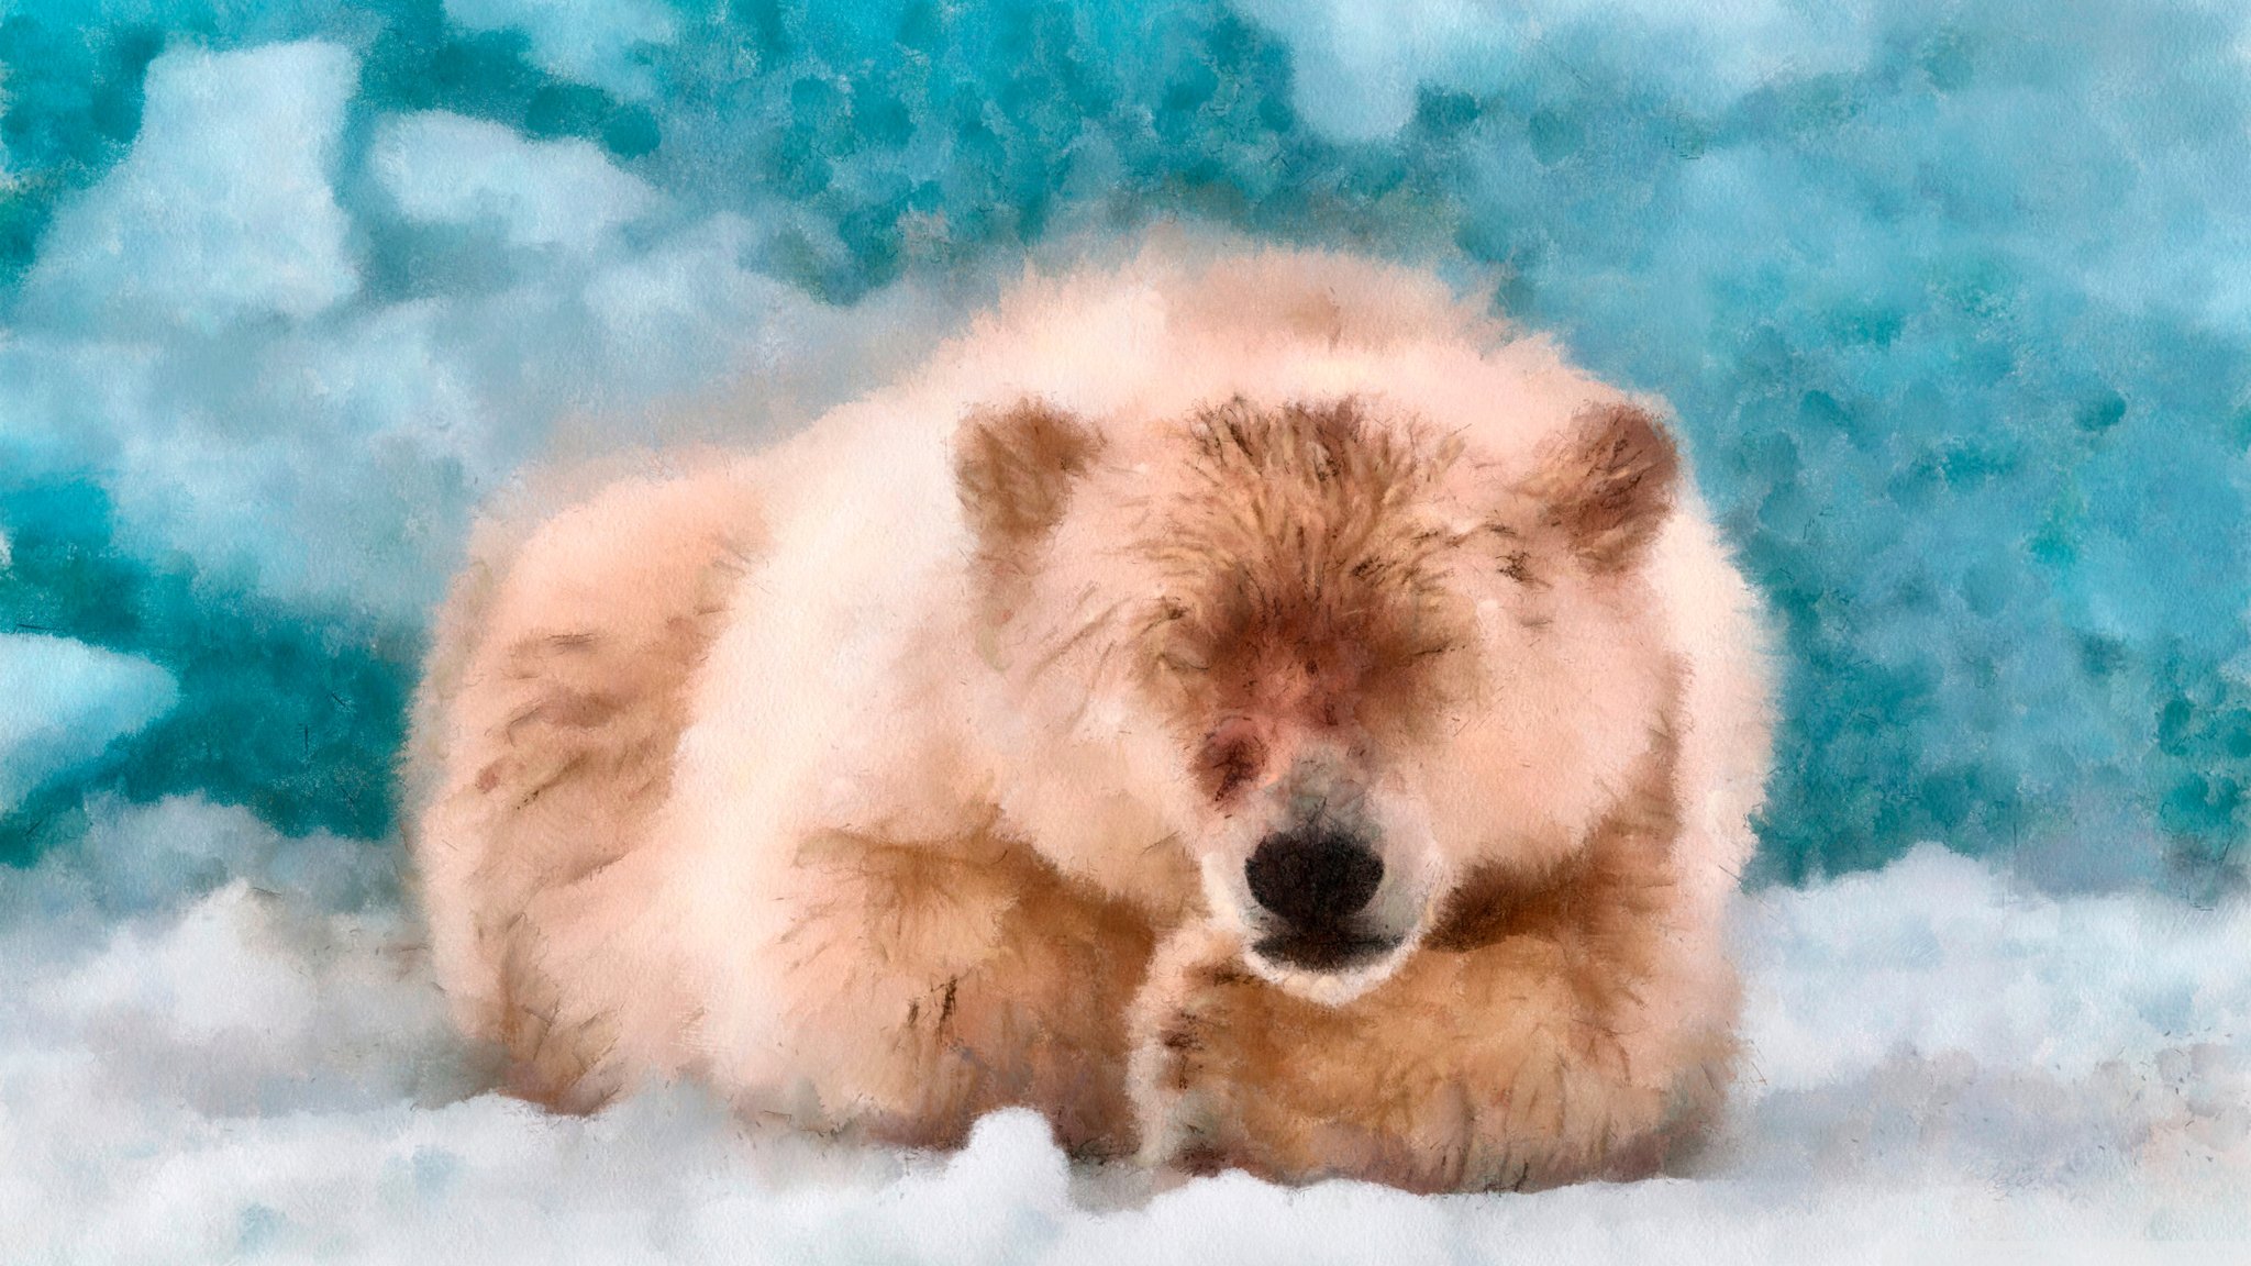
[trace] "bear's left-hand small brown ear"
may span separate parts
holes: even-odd
[[[1035,399],[972,412],[954,435],[954,489],[986,554],[1006,554],[1062,520],[1071,482],[1094,464],[1101,435]]]

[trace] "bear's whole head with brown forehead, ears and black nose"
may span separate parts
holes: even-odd
[[[1623,399],[1479,435],[1353,396],[972,414],[999,777],[1053,784],[1002,820],[1067,872],[1184,861],[1245,964],[1324,1002],[1569,865],[1666,743],[1679,460]]]

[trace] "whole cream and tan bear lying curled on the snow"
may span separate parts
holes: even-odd
[[[1659,1171],[1738,1059],[1772,725],[1663,412],[1427,268],[1157,243],[488,523],[403,757],[455,1023],[556,1111]]]

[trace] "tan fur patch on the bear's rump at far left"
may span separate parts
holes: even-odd
[[[491,619],[506,601],[536,599],[547,619],[493,628],[473,653],[432,671],[416,728],[443,752],[441,707],[459,710],[477,764],[410,827],[421,867],[457,865],[432,849],[464,822],[484,840],[455,901],[473,899],[473,953],[491,964],[488,998],[473,1036],[504,1047],[511,1093],[560,1108],[594,1108],[621,1088],[608,1059],[615,1020],[588,1011],[549,978],[538,910],[639,847],[671,791],[673,752],[687,723],[687,687],[718,631],[723,597],[756,525],[734,514],[723,482],[657,484],[633,516],[565,538],[565,568],[527,574],[466,572],[446,624]],[[655,541],[655,550],[644,550]],[[545,590],[565,590],[554,601]],[[597,595],[630,595],[601,601]],[[441,649],[450,644],[441,640]],[[441,915],[432,910],[432,915]]]

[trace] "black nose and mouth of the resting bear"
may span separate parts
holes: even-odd
[[[1384,863],[1353,831],[1328,824],[1274,831],[1252,849],[1243,879],[1267,915],[1270,935],[1256,948],[1279,964],[1337,971],[1398,944],[1357,917],[1382,888]]]

